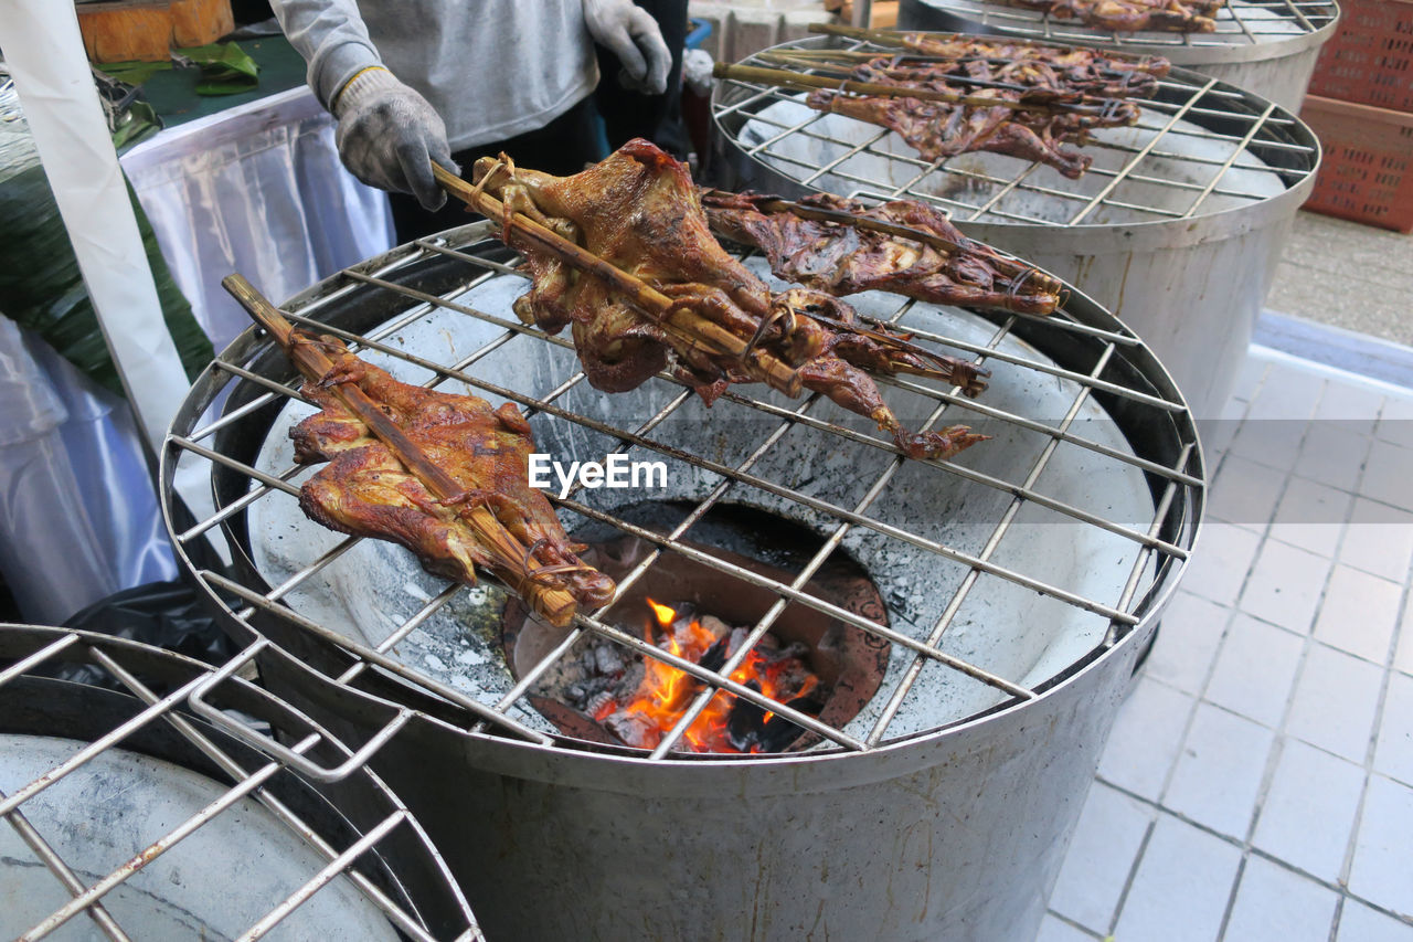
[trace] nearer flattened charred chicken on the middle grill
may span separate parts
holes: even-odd
[[[983,150],[1034,160],[1065,177],[1078,178],[1088,170],[1091,158],[1064,147],[1067,141],[1082,143],[1091,129],[1132,124],[1139,119],[1137,106],[1129,102],[1108,99],[1102,105],[1082,105],[1084,96],[1077,92],[952,85],[934,71],[893,69],[882,61],[859,65],[853,76],[859,82],[896,88],[900,93],[873,96],[817,89],[805,103],[821,112],[897,132],[924,160]],[[909,98],[907,89],[931,89],[965,96],[971,102],[993,99],[998,103],[924,100]],[[1056,106],[1072,110],[1051,110]]]

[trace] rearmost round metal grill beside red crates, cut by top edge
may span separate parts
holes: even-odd
[[[992,33],[1161,55],[1299,112],[1340,7],[1334,0],[1228,0],[1212,33],[1115,33],[991,0],[903,0],[897,20],[903,30]]]

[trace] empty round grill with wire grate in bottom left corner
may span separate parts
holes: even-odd
[[[0,935],[480,938],[425,832],[362,758],[233,676],[254,653],[218,672],[106,635],[0,625]],[[315,789],[198,716],[216,710],[341,765],[341,782]]]

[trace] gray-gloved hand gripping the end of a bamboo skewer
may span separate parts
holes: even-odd
[[[447,126],[427,99],[384,68],[363,69],[333,100],[339,157],[355,177],[379,190],[410,192],[425,209],[441,209],[447,194],[432,161],[452,173]]]

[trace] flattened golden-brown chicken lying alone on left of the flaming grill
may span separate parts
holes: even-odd
[[[526,463],[534,438],[512,403],[493,410],[476,396],[401,383],[332,338],[295,332],[292,342],[318,344],[333,362],[322,380],[307,380],[301,390],[322,410],[290,431],[298,463],[329,463],[300,489],[300,506],[311,519],[341,533],[400,543],[428,571],[468,586],[476,583],[479,566],[512,588],[528,578],[564,588],[586,605],[612,598],[613,580],[579,562],[575,550],[582,547],[569,545],[550,502],[530,488]],[[362,389],[462,494],[455,501],[432,494],[348,409],[338,383]],[[489,509],[514,540],[510,554],[521,557],[506,559],[506,547],[487,546],[468,523],[471,508]]]

